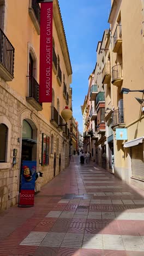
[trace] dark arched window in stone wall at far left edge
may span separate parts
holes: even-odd
[[[0,124],[0,162],[6,161],[8,127]]]

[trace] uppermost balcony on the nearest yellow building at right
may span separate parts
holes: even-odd
[[[122,25],[117,25],[113,35],[113,53],[122,54]]]

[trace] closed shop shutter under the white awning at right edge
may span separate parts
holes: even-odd
[[[132,177],[144,181],[143,144],[131,147]]]

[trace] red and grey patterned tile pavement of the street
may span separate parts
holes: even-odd
[[[144,191],[74,156],[35,196],[0,214],[0,255],[144,255]]]

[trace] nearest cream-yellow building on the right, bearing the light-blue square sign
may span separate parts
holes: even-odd
[[[112,1],[109,23],[109,37],[105,41],[105,48],[109,50],[105,61],[110,63],[106,81],[107,98],[110,98],[106,100],[106,108],[109,102],[111,107],[106,123],[110,126],[107,130],[113,130],[113,138],[109,138],[107,144],[113,141],[114,160],[110,168],[110,155],[107,156],[107,168],[128,183],[144,188],[143,1]],[[119,129],[122,130],[118,138]],[[126,129],[126,139],[122,137],[123,129]],[[107,145],[107,154],[109,150]]]

